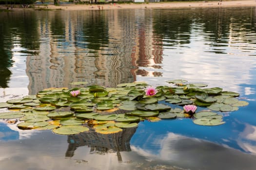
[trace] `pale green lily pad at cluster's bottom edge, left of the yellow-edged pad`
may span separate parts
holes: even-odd
[[[89,131],[89,128],[81,125],[61,126],[52,130],[53,133],[59,135],[75,135],[86,131]]]

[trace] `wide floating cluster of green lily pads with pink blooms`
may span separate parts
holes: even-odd
[[[89,130],[102,134],[137,127],[139,121],[158,121],[190,117],[199,125],[220,125],[221,112],[235,111],[248,104],[236,92],[222,88],[202,88],[185,80],[167,81],[171,85],[149,86],[145,82],[119,84],[116,88],[98,85],[48,88],[7,102],[0,102],[0,119],[19,119],[20,129],[52,129],[56,134],[72,135]],[[182,109],[182,106],[184,109]],[[197,106],[205,109],[196,112]],[[196,112],[196,113],[195,113]]]

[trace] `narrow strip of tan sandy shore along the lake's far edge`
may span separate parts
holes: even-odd
[[[35,5],[34,9],[45,8],[52,10],[107,10],[107,9],[129,9],[129,8],[206,8],[206,7],[239,7],[256,6],[256,0],[218,0],[211,1],[193,1],[193,2],[157,2],[157,3],[131,3],[131,4],[60,4],[55,5]],[[5,8],[6,6],[1,6]],[[13,8],[12,10],[33,10],[32,8]]]

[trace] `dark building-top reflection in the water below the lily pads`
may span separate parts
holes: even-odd
[[[91,148],[90,153],[117,152],[118,160],[121,161],[119,152],[131,151],[130,140],[137,128],[125,128],[115,134],[99,134],[96,132],[84,132],[78,135],[68,136],[68,149],[66,157],[72,157],[75,150],[80,146]]]

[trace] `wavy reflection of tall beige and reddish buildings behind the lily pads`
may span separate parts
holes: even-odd
[[[39,21],[39,55],[27,57],[29,93],[69,87],[71,82],[115,87],[136,81],[136,74],[143,70],[145,76],[161,76],[154,71],[161,68],[162,48],[154,38],[152,18],[146,17],[151,12],[49,12]],[[143,24],[141,17],[146,20]],[[103,27],[104,33],[92,33],[92,24],[96,29]]]

